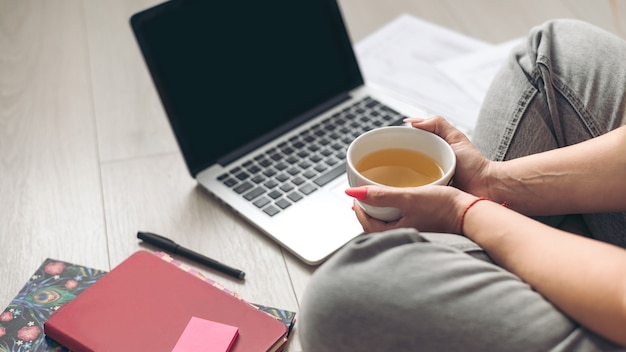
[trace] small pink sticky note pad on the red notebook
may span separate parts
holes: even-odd
[[[192,317],[172,352],[226,352],[238,334],[235,326]]]

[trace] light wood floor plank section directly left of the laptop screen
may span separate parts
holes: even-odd
[[[178,150],[129,22],[158,2],[84,2],[102,161]]]

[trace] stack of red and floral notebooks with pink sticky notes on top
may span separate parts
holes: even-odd
[[[109,273],[48,259],[0,314],[0,350],[281,351],[294,317],[161,252]]]

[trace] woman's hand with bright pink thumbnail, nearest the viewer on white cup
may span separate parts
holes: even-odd
[[[412,227],[420,231],[461,233],[463,209],[476,197],[448,186],[393,188],[363,186],[349,188],[346,194],[373,206],[396,207],[399,220],[384,222],[367,215],[354,203],[354,212],[365,232]]]

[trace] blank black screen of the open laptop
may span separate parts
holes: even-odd
[[[131,25],[193,176],[363,83],[335,0],[173,0]]]

